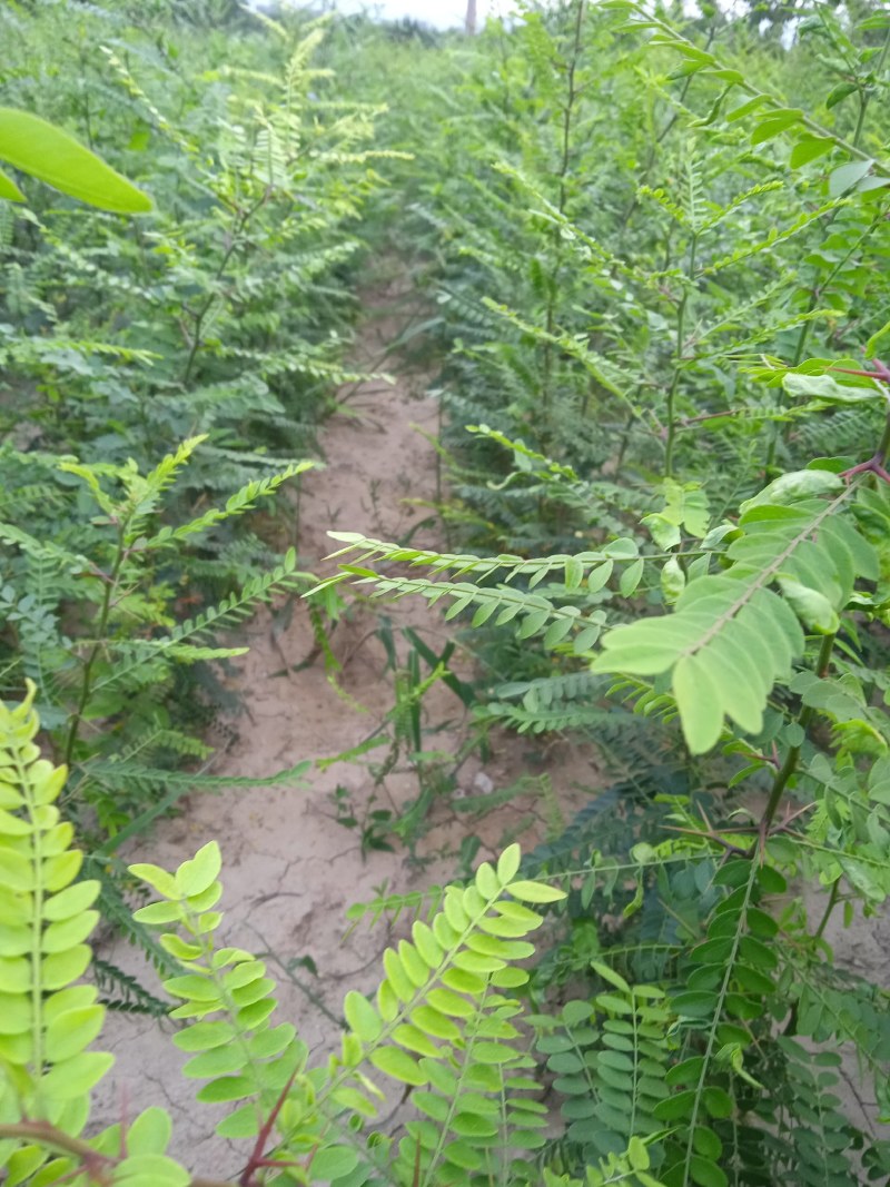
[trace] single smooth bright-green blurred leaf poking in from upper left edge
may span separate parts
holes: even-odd
[[[89,148],[52,123],[0,107],[0,160],[81,202],[117,214],[144,214],[151,199]]]

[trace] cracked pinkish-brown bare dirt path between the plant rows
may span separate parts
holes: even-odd
[[[367,293],[364,304],[351,363],[373,370],[387,344],[422,311],[411,307],[403,279]],[[398,370],[399,357],[387,358],[386,367]],[[425,394],[428,379],[402,367],[393,383],[369,380],[341,393],[342,411],[322,438],[326,468],[306,476],[300,495],[299,551],[305,569],[331,571],[331,564],[323,561],[332,547],[329,529],[399,541],[428,515],[414,502],[433,501],[437,494],[436,450],[424,436],[434,438],[438,429],[437,404]],[[421,526],[412,542],[436,546],[434,528]],[[447,631],[437,610],[419,598],[384,609],[395,627],[414,627],[440,650]],[[300,760],[341,754],[380,726],[393,706],[393,675],[375,634],[377,612],[360,608],[333,631],[331,642],[342,665],[339,688],[328,679],[320,659],[293,671],[314,646],[305,605],[294,608],[284,630],[268,612],[258,615],[237,640],[250,646],[235,681],[247,712],[233,723],[236,740],[216,770],[261,777]],[[456,753],[466,736],[462,703],[439,684],[424,698],[424,715],[427,726],[437,726],[430,747]],[[540,772],[529,749],[517,738],[495,740],[484,770],[478,756],[462,766],[460,787],[472,794],[496,793],[529,768]],[[553,787],[549,810],[555,804],[567,819],[584,802],[585,788],[598,782],[595,758],[568,743],[558,744],[547,753],[546,769]],[[398,843],[395,852],[362,855],[357,832],[335,819],[337,787],[345,788],[362,811],[373,791],[367,766],[316,768],[304,789],[192,796],[179,818],[161,824],[126,855],[129,861],[174,868],[205,842],[220,842],[224,942],[266,954],[269,976],[279,982],[279,1021],[294,1021],[319,1056],[338,1043],[339,1003],[347,990],[369,990],[379,983],[380,957],[390,940],[384,921],[374,928],[362,925],[344,939],[351,903],[375,899],[382,886],[405,891],[447,881],[454,859],[441,855],[453,852],[473,829],[482,839],[481,856],[495,852],[507,834],[529,846],[547,831],[547,813],[534,796],[507,805],[475,826],[447,804],[434,805],[436,827],[419,849],[430,864],[418,869]],[[375,806],[398,807],[411,800],[418,794],[417,774],[396,769],[383,794],[388,798]],[[154,984],[154,973],[125,945],[106,946],[100,954]],[[300,963],[306,958],[317,976]],[[199,1084],[179,1075],[185,1056],[169,1041],[170,1033],[170,1024],[159,1030],[152,1018],[109,1017],[102,1046],[115,1052],[117,1062],[96,1094],[94,1118],[107,1124],[133,1117],[148,1104],[165,1105],[174,1118],[171,1153],[196,1174],[233,1175],[243,1166],[246,1150],[242,1143],[214,1135],[221,1113],[195,1103]]]

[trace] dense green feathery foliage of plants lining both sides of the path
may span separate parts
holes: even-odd
[[[889,991],[825,934],[890,893],[890,370],[867,364],[890,338],[890,14],[705,7],[566,0],[472,40],[186,0],[0,14],[0,159],[65,190],[5,151],[25,110],[153,202],[126,220],[0,180],[4,687],[32,681],[90,849],[70,886],[64,776],[31,702],[5,711],[9,1182],[190,1180],[160,1113],[81,1137],[107,1067],[76,984],[98,895],[196,1020],[177,1042],[201,1099],[235,1104],[244,1187],[886,1181]],[[446,607],[501,673],[479,730],[578,734],[615,783],[521,867],[511,848],[463,889],[358,907],[413,910],[413,944],[310,1068],[262,964],[215,946],[216,848],[176,875],[112,855],[214,786],[184,693],[212,703],[236,656],[216,630],[309,585],[246,514],[299,478],[345,377],[360,234],[434,304],[453,551],[338,532],[316,596]],[[412,643],[394,754],[419,748],[417,656],[445,669]],[[163,899],[135,915],[133,877]],[[415,1109],[400,1141],[371,1128],[377,1073]]]

